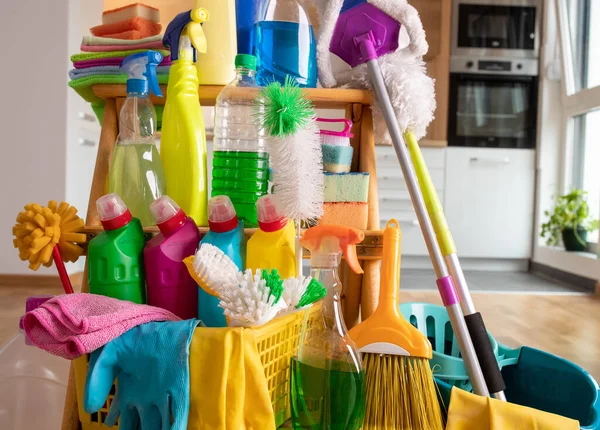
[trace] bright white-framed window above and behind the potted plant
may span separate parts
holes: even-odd
[[[600,1],[555,0],[563,53],[563,191],[588,193],[600,217]],[[588,236],[597,249],[598,232]]]

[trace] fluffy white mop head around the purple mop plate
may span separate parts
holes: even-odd
[[[406,0],[368,0],[368,3],[400,22],[410,38],[406,48],[384,55],[379,58],[379,64],[400,128],[412,130],[420,139],[433,120],[436,104],[434,81],[427,76],[422,58],[429,45],[419,13]],[[319,81],[328,88],[371,89],[366,64],[338,72],[332,67],[333,54],[329,52],[329,46],[342,4],[343,0],[315,0],[321,25],[317,44]],[[375,140],[389,143],[391,139],[381,110],[377,103],[373,107]]]

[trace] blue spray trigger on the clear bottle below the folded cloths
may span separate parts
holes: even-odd
[[[156,77],[156,67],[162,59],[163,56],[160,52],[152,50],[127,56],[121,63],[121,69],[129,75],[127,92],[148,94],[148,90],[150,90],[162,97]]]

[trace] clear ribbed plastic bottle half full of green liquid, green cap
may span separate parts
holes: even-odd
[[[269,192],[269,153],[262,127],[255,123],[253,95],[256,57],[235,58],[236,77],[218,95],[213,140],[212,195],[226,195],[246,227],[257,227],[256,201]],[[259,111],[260,113],[260,111]]]

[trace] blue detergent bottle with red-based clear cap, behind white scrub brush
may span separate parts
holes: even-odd
[[[227,196],[215,196],[208,201],[210,230],[200,241],[216,246],[235,263],[239,270],[246,267],[246,235],[244,223],[238,220],[233,203]],[[198,319],[207,327],[227,327],[219,298],[198,288]]]

